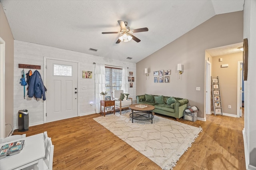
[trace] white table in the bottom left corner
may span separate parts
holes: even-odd
[[[44,133],[1,143],[0,147],[19,140],[25,140],[23,149],[18,154],[1,159],[0,170],[20,170],[33,164],[38,164],[39,169],[42,169],[45,156]]]

